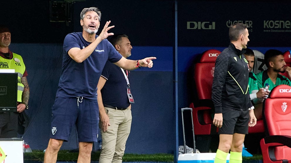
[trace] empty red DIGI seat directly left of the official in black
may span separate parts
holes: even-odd
[[[220,53],[221,51],[215,49],[207,50],[202,54],[200,62],[195,64],[194,81],[199,100],[190,104],[193,110],[195,135],[216,133],[211,118],[211,109],[213,108],[211,92],[215,60]]]

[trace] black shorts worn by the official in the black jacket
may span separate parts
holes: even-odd
[[[248,122],[250,115],[248,110],[235,110],[222,108],[222,127],[219,128],[219,134],[248,134]]]

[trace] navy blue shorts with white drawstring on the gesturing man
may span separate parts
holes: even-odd
[[[78,107],[79,105],[79,107]],[[86,98],[57,97],[52,110],[50,138],[68,141],[72,129],[77,128],[79,142],[97,142],[98,103]]]

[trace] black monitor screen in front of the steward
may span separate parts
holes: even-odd
[[[0,73],[0,112],[17,111],[17,73]]]

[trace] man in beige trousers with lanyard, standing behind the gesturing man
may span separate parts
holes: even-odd
[[[110,42],[124,58],[131,56],[127,35],[114,35]],[[130,71],[106,62],[97,86],[102,136],[99,163],[122,162],[131,129],[131,103],[134,103],[129,78]]]

